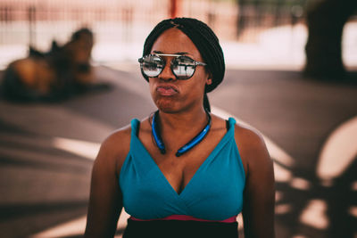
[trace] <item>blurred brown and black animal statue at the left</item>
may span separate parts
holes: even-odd
[[[94,44],[89,29],[79,29],[49,52],[29,47],[29,56],[11,62],[4,70],[5,98],[16,101],[55,101],[86,90],[94,81],[90,55]]]

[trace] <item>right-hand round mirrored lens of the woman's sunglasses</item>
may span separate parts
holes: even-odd
[[[172,71],[179,79],[191,78],[195,73],[195,61],[187,56],[179,56],[171,63]]]

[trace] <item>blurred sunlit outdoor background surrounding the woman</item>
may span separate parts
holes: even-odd
[[[277,238],[356,238],[355,0],[0,0],[2,237],[83,234],[100,143],[155,110],[145,37],[176,16],[220,38],[212,112],[264,135]]]

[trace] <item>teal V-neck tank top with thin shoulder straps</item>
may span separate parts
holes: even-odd
[[[130,150],[119,177],[123,206],[129,215],[139,219],[186,215],[219,221],[241,212],[245,170],[234,137],[235,119],[228,119],[226,135],[181,193],[172,188],[138,139],[139,123],[131,121]]]

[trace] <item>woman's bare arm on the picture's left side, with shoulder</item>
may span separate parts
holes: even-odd
[[[120,134],[125,133],[117,132],[104,141],[93,165],[86,238],[113,237],[117,228],[122,209],[119,168],[128,149],[126,140],[122,139],[125,135]]]

